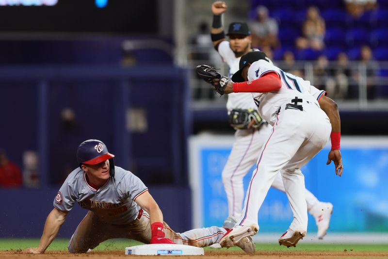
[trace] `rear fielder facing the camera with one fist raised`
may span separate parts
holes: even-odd
[[[239,61],[242,55],[258,50],[251,48],[251,36],[248,26],[244,22],[233,22],[229,25],[229,41],[225,39],[225,32],[221,22],[221,16],[227,10],[226,3],[216,1],[211,6],[213,23],[211,28],[211,39],[214,48],[220,54],[222,60],[229,66],[229,78],[239,70]],[[321,95],[324,91],[321,91]],[[226,109],[229,113],[230,122],[237,124],[233,117],[253,117],[250,124],[236,129],[235,141],[229,154],[228,160],[222,172],[222,180],[225,187],[229,217],[227,222],[235,221],[241,216],[242,201],[244,195],[243,178],[248,170],[256,163],[261,147],[272,131],[272,126],[261,121],[257,113],[257,106],[252,93],[231,93],[228,95]],[[248,115],[246,115],[248,114]],[[260,122],[261,121],[261,122]],[[256,124],[259,122],[259,124]],[[277,174],[272,187],[285,192],[284,184],[280,174]],[[306,202],[307,210],[314,217],[318,227],[317,236],[322,239],[329,227],[333,205],[329,202],[319,201],[307,189]]]

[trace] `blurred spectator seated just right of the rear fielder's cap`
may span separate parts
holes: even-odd
[[[274,18],[268,16],[268,9],[259,5],[256,8],[257,19],[249,23],[252,34],[252,46],[259,49],[265,47],[275,48],[278,46],[278,25]]]

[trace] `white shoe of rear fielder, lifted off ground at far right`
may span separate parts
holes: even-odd
[[[318,202],[311,210],[311,215],[315,218],[315,223],[318,227],[317,236],[323,239],[329,228],[331,213],[333,213],[333,204],[330,202]]]

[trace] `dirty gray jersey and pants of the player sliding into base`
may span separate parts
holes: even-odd
[[[111,238],[128,238],[143,243],[151,240],[149,215],[136,203],[148,192],[146,185],[131,172],[115,166],[115,175],[96,189],[87,181],[86,173],[77,168],[66,178],[54,199],[54,207],[70,211],[74,203],[89,210],[68,244],[71,253],[83,253]],[[174,232],[165,222],[165,236],[178,244],[204,247],[218,243],[226,233],[223,227]]]

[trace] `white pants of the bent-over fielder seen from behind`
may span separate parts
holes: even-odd
[[[280,172],[294,217],[290,228],[307,231],[305,179],[300,168],[326,144],[331,124],[327,115],[313,103],[303,103],[303,111],[285,110],[285,106],[281,106],[272,132],[260,151],[239,225],[258,223],[259,209]]]

